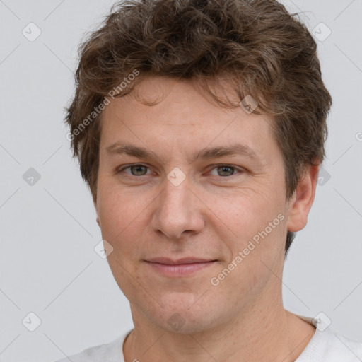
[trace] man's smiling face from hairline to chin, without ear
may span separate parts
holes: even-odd
[[[103,113],[95,202],[132,313],[194,332],[268,308],[281,298],[290,212],[271,119],[213,105],[188,81],[148,78],[137,91]],[[187,274],[149,262],[160,257],[207,263]]]

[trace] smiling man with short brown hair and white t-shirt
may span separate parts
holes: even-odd
[[[305,25],[271,0],[122,1],[76,80],[69,139],[134,329],[71,361],[361,361],[281,298],[332,104]]]

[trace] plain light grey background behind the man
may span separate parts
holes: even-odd
[[[1,361],[54,361],[133,327],[94,251],[100,230],[63,124],[78,43],[113,2],[0,0]],[[362,1],[284,4],[320,36],[320,22],[332,31],[317,42],[334,100],[325,174],[287,258],[284,303],[300,315],[323,312],[336,332],[362,341]],[[42,32],[33,42],[22,34],[30,22]],[[40,174],[34,185],[23,180],[29,168]],[[22,323],[30,312],[41,320],[34,332]]]

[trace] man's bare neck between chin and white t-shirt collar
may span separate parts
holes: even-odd
[[[251,308],[223,325],[202,332],[161,329],[132,307],[134,330],[124,342],[126,361],[238,362],[295,361],[315,327],[283,308]]]

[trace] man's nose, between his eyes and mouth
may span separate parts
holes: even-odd
[[[176,240],[187,233],[199,233],[204,228],[202,209],[205,206],[190,186],[187,178],[177,186],[165,178],[163,192],[153,204],[153,230]]]

